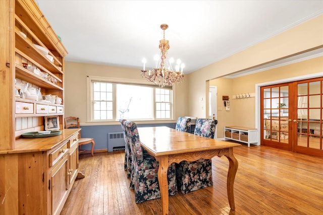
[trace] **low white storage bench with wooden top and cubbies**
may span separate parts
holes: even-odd
[[[248,144],[254,144],[259,146],[258,143],[258,129],[248,128],[241,126],[225,126],[224,127],[224,137],[225,139],[232,139],[239,142],[244,142]]]

